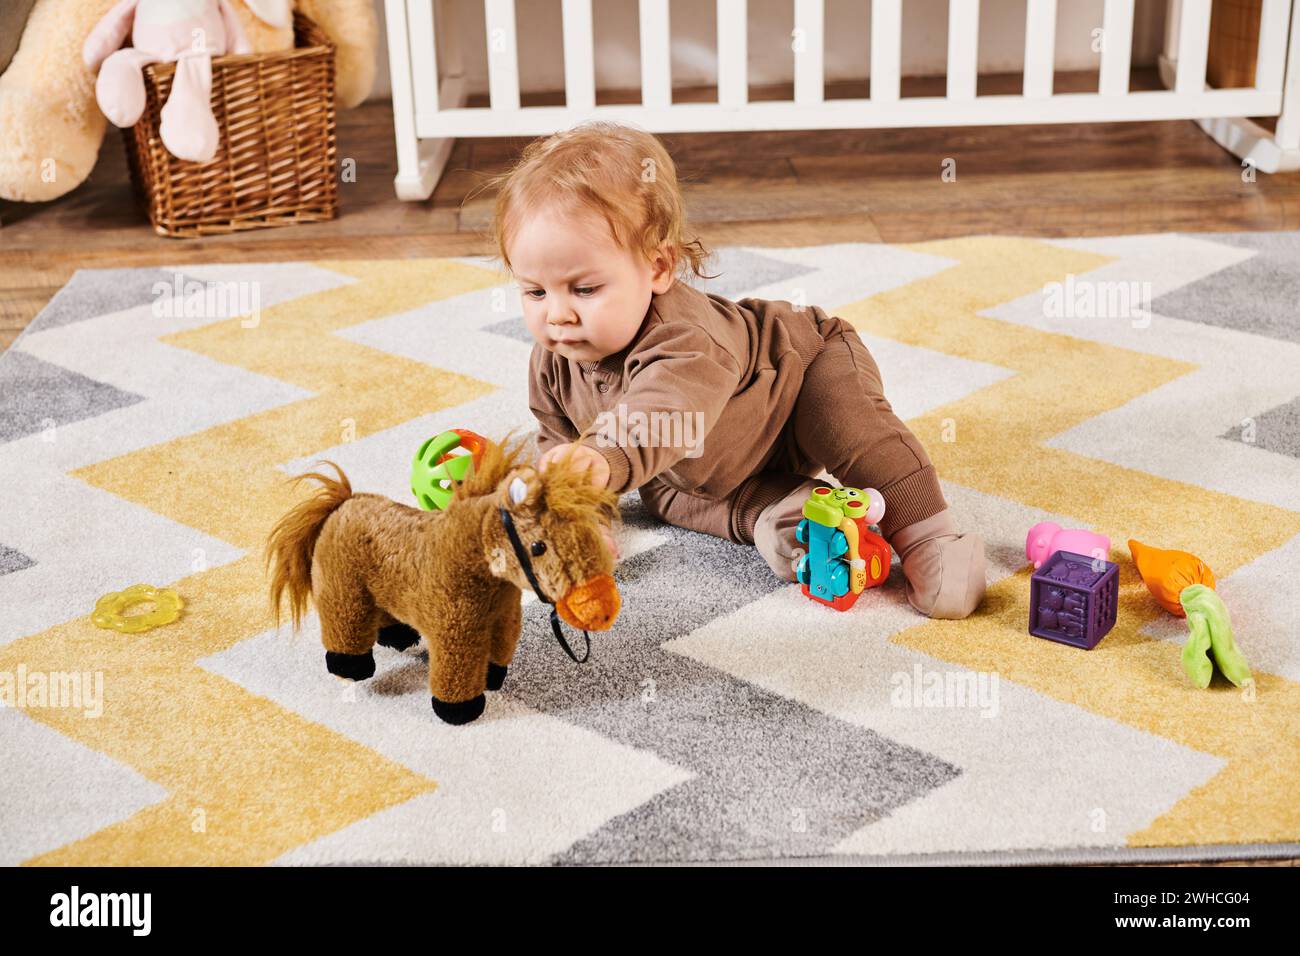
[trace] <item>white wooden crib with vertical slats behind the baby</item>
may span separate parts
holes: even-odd
[[[1197,120],[1225,148],[1262,172],[1300,168],[1300,0],[1264,0],[1254,86],[1205,83],[1210,0],[1169,0],[1166,90],[1130,91],[1134,0],[1105,0],[1097,92],[1053,94],[1057,0],[1027,0],[1024,86],[1018,95],[976,96],[979,0],[949,0],[948,86],[942,96],[898,95],[902,0],[871,0],[871,95],[823,96],[824,0],[794,0],[794,98],[749,101],[746,0],[718,4],[718,103],[673,103],[668,0],[640,0],[641,104],[595,105],[592,1],[563,0],[563,107],[521,107],[515,1],[484,0],[489,107],[465,107],[459,51],[438,61],[434,0],[386,0],[400,199],[426,199],[455,137],[543,135],[582,120],[634,124],[653,133],[725,130],[993,126],[1040,122]],[[863,14],[866,14],[866,7]],[[455,3],[439,27],[455,36]],[[1244,117],[1275,116],[1277,133]]]

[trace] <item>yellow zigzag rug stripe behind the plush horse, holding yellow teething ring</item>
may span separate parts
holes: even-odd
[[[116,635],[79,617],[0,648],[0,669],[78,661],[78,670],[103,671],[99,719],[55,708],[30,715],[170,792],[29,864],[266,862],[436,786],[196,665],[272,626],[261,545],[295,499],[278,463],[339,444],[344,419],[361,437],[493,390],[330,333],[489,287],[497,273],[446,260],[320,265],[358,281],[268,308],[252,329],[231,320],[162,339],[294,382],[312,398],[74,472],[251,554],[177,581],[186,613],[164,630]],[[196,810],[205,829],[196,829]]]

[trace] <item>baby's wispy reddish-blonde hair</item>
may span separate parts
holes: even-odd
[[[534,139],[510,170],[480,187],[498,189],[491,238],[511,272],[507,245],[519,222],[554,206],[599,216],[614,241],[645,261],[654,261],[667,243],[675,272],[685,264],[701,278],[716,278],[703,271],[712,254],[698,238],[685,238],[677,168],[663,144],[644,130],[608,121],[560,130]]]

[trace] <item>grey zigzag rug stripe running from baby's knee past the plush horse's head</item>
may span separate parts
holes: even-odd
[[[575,666],[551,636],[549,607],[530,604],[502,693],[696,775],[552,862],[822,855],[958,775],[936,757],[666,650],[786,585],[753,548],[659,524],[636,494],[623,505],[629,525],[667,541],[619,566],[615,628],[592,635],[592,659]]]

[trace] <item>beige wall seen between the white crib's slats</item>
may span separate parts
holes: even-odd
[[[488,90],[482,0],[455,3],[460,13],[460,49],[472,91]],[[640,85],[636,0],[593,0],[597,40],[595,82],[601,88]],[[376,0],[382,23],[384,0]],[[828,79],[868,73],[870,0],[827,0],[826,66]],[[1058,5],[1057,69],[1097,69],[1092,30],[1101,25],[1102,0],[1069,0]],[[560,90],[564,57],[560,44],[560,0],[516,0],[520,83],[524,90]],[[794,62],[789,34],[793,0],[749,0],[749,69],[751,83],[789,82]],[[673,86],[716,81],[715,4],[671,0]],[[1134,65],[1149,65],[1160,52],[1164,0],[1138,0]],[[381,30],[381,38],[385,35]],[[1024,61],[1024,0],[984,0],[980,8],[979,69],[1019,72]],[[948,0],[904,0],[902,68],[905,75],[942,74],[948,56]],[[380,43],[380,75],[374,96],[389,95],[387,48]]]

